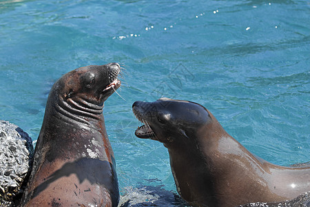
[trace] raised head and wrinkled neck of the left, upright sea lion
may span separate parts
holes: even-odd
[[[102,115],[104,101],[121,86],[117,79],[120,70],[118,63],[108,63],[66,73],[54,83],[47,110],[54,108],[59,115],[76,121],[85,122],[85,117],[101,119],[98,115]]]

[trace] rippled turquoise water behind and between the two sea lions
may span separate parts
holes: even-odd
[[[308,1],[0,1],[0,119],[36,140],[66,72],[123,64],[105,102],[121,190],[174,190],[167,149],[134,136],[136,100],[195,101],[254,154],[310,157]]]

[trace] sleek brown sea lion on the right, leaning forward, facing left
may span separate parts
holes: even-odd
[[[285,201],[310,189],[309,166],[256,157],[198,103],[162,98],[136,101],[132,110],[145,124],[136,136],[164,144],[178,193],[192,206]]]

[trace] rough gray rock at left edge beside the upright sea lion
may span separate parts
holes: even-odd
[[[21,128],[0,120],[0,206],[12,203],[23,193],[33,161],[32,139]]]

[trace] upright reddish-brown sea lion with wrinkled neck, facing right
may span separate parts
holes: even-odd
[[[63,75],[50,91],[21,206],[117,206],[103,102],[121,86],[118,63]]]

